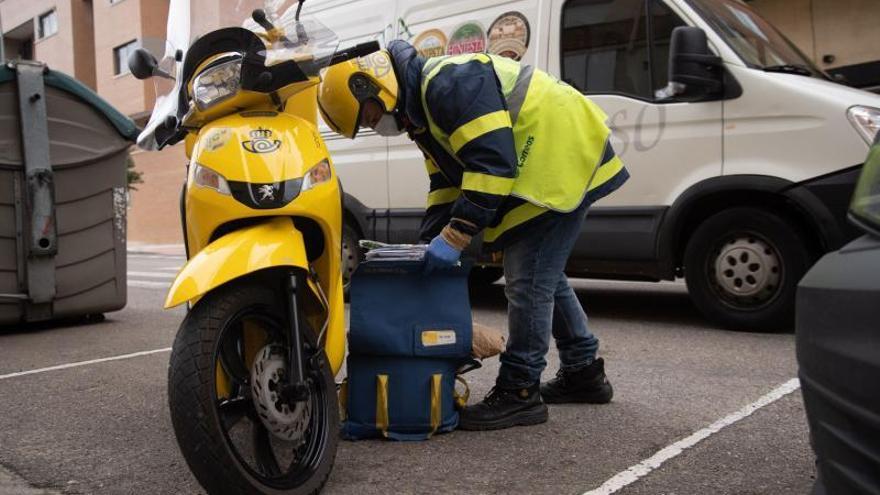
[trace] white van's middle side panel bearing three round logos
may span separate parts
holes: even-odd
[[[532,0],[408,0],[400,5],[397,37],[423,56],[478,51],[537,64],[538,47],[546,46],[536,28],[544,24],[539,3],[543,5]],[[428,194],[421,151],[406,136],[391,138],[388,169],[391,241],[415,242]]]

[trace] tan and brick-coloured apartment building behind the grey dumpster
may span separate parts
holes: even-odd
[[[153,83],[129,73],[128,56],[145,40],[165,38],[170,1],[0,0],[5,59],[45,62],[143,125],[155,101]],[[132,194],[129,238],[180,242],[176,205],[186,160],[182,147],[134,151],[133,156],[144,183]]]

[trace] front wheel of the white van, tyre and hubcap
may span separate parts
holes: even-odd
[[[791,223],[756,208],[705,220],[684,253],[691,299],[709,320],[733,330],[778,331],[794,319],[797,284],[810,253]]]

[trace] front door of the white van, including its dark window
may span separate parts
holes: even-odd
[[[651,278],[663,213],[688,186],[722,171],[722,103],[664,98],[672,30],[688,25],[661,0],[553,0],[550,72],[609,116],[630,180],[599,201],[573,271]],[[585,262],[589,260],[589,267]]]

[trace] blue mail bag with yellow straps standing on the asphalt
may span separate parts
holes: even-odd
[[[470,361],[467,267],[369,261],[352,275],[343,435],[425,440],[458,426],[455,381]]]

